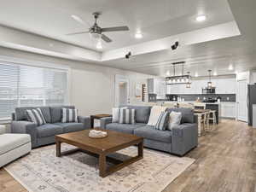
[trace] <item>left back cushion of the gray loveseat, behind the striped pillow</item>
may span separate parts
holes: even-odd
[[[20,108],[15,108],[15,120],[28,120],[26,110],[36,109],[36,108],[41,109],[46,123],[50,123],[51,119],[50,119],[49,107],[20,107]]]

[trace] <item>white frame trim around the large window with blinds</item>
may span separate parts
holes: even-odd
[[[67,71],[67,105],[70,104],[71,67],[63,64],[49,63],[44,61],[32,61],[32,60],[26,60],[26,59],[10,57],[5,55],[0,55],[0,62],[6,62],[6,64],[15,64],[15,65],[28,66],[28,67],[49,68],[56,71],[58,70]],[[9,124],[10,121],[11,121],[11,117],[2,118],[0,119],[0,124]]]

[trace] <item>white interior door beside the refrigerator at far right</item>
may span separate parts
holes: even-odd
[[[247,122],[247,80],[237,82],[237,119]]]

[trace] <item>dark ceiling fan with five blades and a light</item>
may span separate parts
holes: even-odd
[[[129,31],[128,26],[114,26],[114,27],[106,27],[102,28],[98,26],[97,19],[99,18],[99,15],[101,15],[100,12],[95,12],[92,15],[94,15],[95,23],[93,26],[90,26],[88,31],[85,32],[73,32],[68,33],[67,35],[78,35],[78,34],[84,34],[84,33],[90,33],[92,37],[94,38],[102,38],[105,42],[110,43],[112,40],[108,38],[108,36],[102,34],[102,32],[121,32],[121,31]],[[73,15],[73,19],[79,21],[79,23],[84,24],[84,20],[81,20],[78,16]]]

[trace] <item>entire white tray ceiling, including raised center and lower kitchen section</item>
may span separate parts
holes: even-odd
[[[207,69],[230,74],[256,67],[255,9],[255,0],[1,1],[0,25],[24,32],[0,27],[0,45],[154,75],[165,75],[168,70],[172,73],[170,65],[173,61],[186,61],[185,70],[192,75],[205,76]],[[129,32],[108,32],[113,43],[103,44],[102,55],[88,34],[65,35],[89,27],[82,26],[71,15],[78,15],[92,24],[91,13],[95,11],[102,11],[99,20],[102,27],[130,27]],[[196,22],[195,16],[201,14],[207,15],[207,20]],[[235,26],[219,27],[229,26],[234,20]],[[240,32],[238,34],[236,24],[240,36],[237,36]],[[143,32],[143,39],[134,38],[137,30]],[[206,37],[200,37],[201,32]],[[172,51],[170,47],[177,37],[185,37],[189,43],[185,44],[182,39],[182,46]],[[140,52],[125,60],[124,53],[136,46]],[[230,65],[234,70],[229,70]]]

